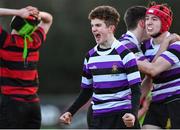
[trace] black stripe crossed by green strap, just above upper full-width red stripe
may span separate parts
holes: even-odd
[[[12,52],[23,52],[23,49],[24,48],[19,48],[19,47],[16,47],[16,46],[8,46],[8,47],[4,48],[4,50],[12,51]],[[28,53],[29,52],[35,52],[38,49],[39,48],[36,48],[36,49],[28,48]]]

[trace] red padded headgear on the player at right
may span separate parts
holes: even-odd
[[[172,12],[165,5],[154,5],[147,9],[146,14],[153,14],[161,20],[161,30],[159,33],[168,31],[172,24]]]

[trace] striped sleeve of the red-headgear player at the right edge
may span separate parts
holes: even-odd
[[[163,52],[161,55],[165,60],[167,60],[171,65],[174,65],[180,61],[180,42],[175,42],[171,44],[167,51]]]

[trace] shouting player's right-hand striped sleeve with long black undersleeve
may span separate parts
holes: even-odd
[[[123,58],[123,64],[125,65],[125,70],[127,74],[127,80],[129,82],[129,87],[131,88],[131,104],[132,104],[132,113],[137,116],[139,104],[140,104],[140,84],[141,76],[137,67],[135,55],[130,52],[125,55]]]

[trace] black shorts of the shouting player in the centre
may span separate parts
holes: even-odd
[[[113,113],[111,115],[92,117],[89,124],[90,129],[140,129],[140,124],[136,118],[134,127],[127,128],[122,120],[125,113],[130,113],[130,111],[123,111],[118,113]]]

